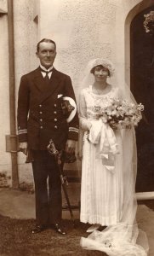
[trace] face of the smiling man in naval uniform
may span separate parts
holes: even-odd
[[[50,42],[42,42],[39,44],[39,50],[36,54],[37,58],[40,59],[41,65],[48,69],[54,63],[54,58],[56,56],[55,46]]]

